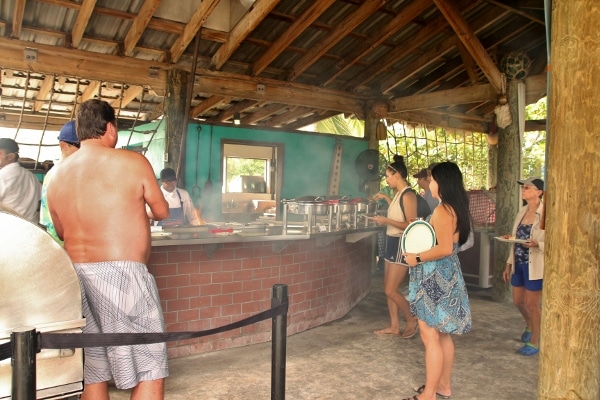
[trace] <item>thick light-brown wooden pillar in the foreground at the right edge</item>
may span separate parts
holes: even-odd
[[[538,399],[600,398],[600,6],[553,0]]]

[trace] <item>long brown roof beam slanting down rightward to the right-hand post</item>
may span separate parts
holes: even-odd
[[[473,57],[479,68],[483,71],[488,81],[498,92],[502,91],[502,73],[494,63],[494,60],[486,52],[485,48],[477,39],[475,31],[467,24],[460,11],[455,9],[449,0],[433,0],[440,12],[456,32],[469,54]]]

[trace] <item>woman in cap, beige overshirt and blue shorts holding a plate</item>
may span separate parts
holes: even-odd
[[[504,269],[504,282],[513,287],[513,303],[525,319],[525,332],[521,335],[524,345],[519,354],[532,356],[539,352],[540,327],[542,324],[542,281],[544,275],[544,241],[542,229],[544,204],[544,181],[529,178],[518,181],[521,197],[526,203],[517,213],[512,229],[512,243]],[[511,276],[512,275],[512,276]]]

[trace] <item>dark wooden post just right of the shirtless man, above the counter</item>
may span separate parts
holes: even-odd
[[[179,187],[184,187],[185,179],[188,76],[188,72],[179,69],[167,71],[165,152],[168,156],[165,167],[173,168],[177,172]]]

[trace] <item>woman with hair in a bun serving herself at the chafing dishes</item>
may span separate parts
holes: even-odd
[[[400,336],[405,339],[412,338],[417,333],[417,320],[410,313],[408,301],[398,291],[408,273],[408,266],[402,260],[398,260],[400,238],[409,222],[417,218],[417,194],[410,189],[407,178],[408,169],[404,164],[404,158],[396,154],[394,162],[389,164],[385,170],[385,181],[394,191],[394,198],[392,199],[382,192],[377,193],[374,197],[374,200],[384,199],[389,204],[387,217],[377,215],[372,218],[378,225],[387,225],[383,289],[390,313],[390,325],[373,333],[380,336]],[[402,201],[402,207],[400,201]],[[406,327],[402,334],[400,334],[399,311],[404,314],[406,319]]]

